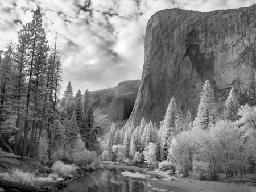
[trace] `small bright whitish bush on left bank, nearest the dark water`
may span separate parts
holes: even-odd
[[[53,172],[63,177],[73,177],[73,174],[76,173],[77,169],[78,167],[75,164],[67,165],[61,161],[57,161],[52,165]]]

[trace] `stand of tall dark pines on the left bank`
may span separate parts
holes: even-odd
[[[78,139],[92,147],[97,130],[89,91],[73,97],[69,82],[59,99],[60,46],[57,35],[48,43],[39,7],[18,35],[0,57],[0,147],[44,162],[68,156]]]

